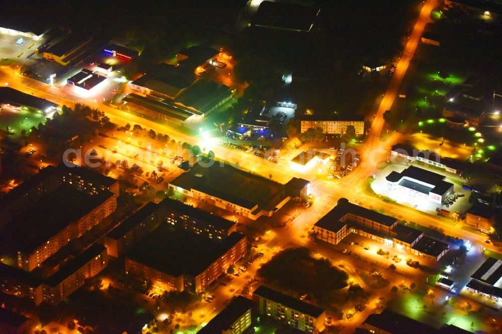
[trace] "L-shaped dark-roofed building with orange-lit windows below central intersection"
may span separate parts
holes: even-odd
[[[352,204],[344,198],[338,200],[338,204],[317,221],[312,229],[318,240],[333,245],[349,233],[355,233],[435,261],[448,250],[447,244],[399,224],[396,218]]]

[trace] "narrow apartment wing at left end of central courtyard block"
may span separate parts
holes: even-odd
[[[161,222],[159,206],[148,202],[143,208],[129,216],[104,238],[109,256],[122,256],[130,247],[159,227]]]

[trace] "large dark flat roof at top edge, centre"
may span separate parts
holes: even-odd
[[[320,11],[314,6],[264,1],[251,23],[257,27],[309,32]]]

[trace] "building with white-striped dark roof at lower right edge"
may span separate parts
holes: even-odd
[[[502,260],[488,257],[471,278],[466,290],[492,299],[499,306],[502,302]]]

